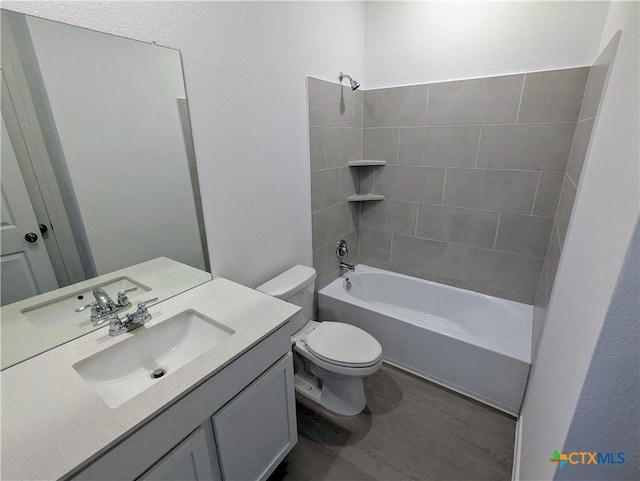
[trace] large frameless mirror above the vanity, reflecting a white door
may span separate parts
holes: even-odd
[[[97,288],[135,307],[210,269],[180,52],[1,20],[5,368],[100,327]]]

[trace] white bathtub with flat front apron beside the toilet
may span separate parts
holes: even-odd
[[[358,265],[318,293],[318,308],[321,320],[372,334],[388,363],[519,413],[532,306]]]

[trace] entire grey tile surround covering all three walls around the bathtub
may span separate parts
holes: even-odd
[[[309,78],[318,287],[339,276],[335,245],[345,238],[352,263],[535,301],[535,346],[593,128],[585,112],[597,107],[602,71],[365,92]],[[359,159],[388,165],[347,167]],[[356,192],[386,200],[349,205]]]

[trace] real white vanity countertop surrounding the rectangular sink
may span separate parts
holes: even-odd
[[[236,332],[223,344],[118,408],[109,408],[73,364],[136,335],[108,326],[0,373],[2,471],[6,480],[58,479],[114,445],[171,401],[285,324],[300,309],[226,279],[151,306],[153,327],[194,309]]]

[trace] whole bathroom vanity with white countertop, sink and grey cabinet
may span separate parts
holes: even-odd
[[[105,327],[0,373],[2,478],[238,480],[273,472],[297,441],[288,323],[300,309],[214,279],[149,311],[152,320],[134,331],[109,337]],[[203,322],[222,334],[189,359],[207,339]],[[178,340],[170,323],[185,326]],[[136,350],[139,359],[127,354]],[[130,390],[128,377],[157,367],[166,374]]]

